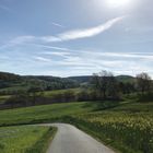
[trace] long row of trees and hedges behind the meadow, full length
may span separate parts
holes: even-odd
[[[46,96],[45,91],[33,84],[27,91],[19,91],[12,95],[5,104],[10,107],[24,107],[40,104],[83,102],[83,101],[119,101],[123,95],[137,94],[139,97],[148,98],[153,95],[153,81],[151,76],[142,72],[137,74],[132,81],[122,82],[108,71],[94,73],[90,82],[80,90],[66,90],[57,92],[51,96]]]

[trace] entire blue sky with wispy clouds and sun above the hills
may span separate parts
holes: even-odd
[[[0,0],[0,71],[153,76],[152,0]]]

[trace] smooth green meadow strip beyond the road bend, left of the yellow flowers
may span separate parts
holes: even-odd
[[[97,109],[97,104],[99,103],[66,103],[0,110],[0,126],[55,121],[67,115]]]

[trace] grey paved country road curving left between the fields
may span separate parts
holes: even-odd
[[[115,153],[89,134],[67,123],[47,123],[58,128],[47,153]]]

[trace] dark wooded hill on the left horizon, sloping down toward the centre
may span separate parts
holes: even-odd
[[[68,78],[44,75],[17,75],[0,72],[0,94],[14,94],[17,91],[28,91],[32,87],[38,91],[51,91],[78,87],[75,80]]]

